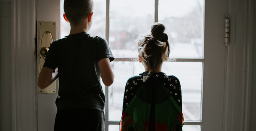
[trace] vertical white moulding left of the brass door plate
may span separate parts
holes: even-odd
[[[35,0],[12,0],[12,131],[37,130],[35,21]]]

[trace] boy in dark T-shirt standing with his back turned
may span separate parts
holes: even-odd
[[[103,131],[105,96],[100,76],[106,86],[112,85],[114,56],[105,39],[87,33],[93,0],[65,0],[64,11],[70,34],[51,43],[38,86],[44,89],[59,78],[54,131]]]

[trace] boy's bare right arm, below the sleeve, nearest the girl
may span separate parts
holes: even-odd
[[[114,73],[111,69],[109,58],[103,58],[98,62],[100,68],[100,75],[105,86],[111,86],[114,82]]]

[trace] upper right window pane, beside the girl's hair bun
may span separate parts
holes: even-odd
[[[159,0],[158,21],[173,39],[170,57],[203,58],[204,0]]]

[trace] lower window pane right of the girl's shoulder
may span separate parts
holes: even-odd
[[[164,62],[162,72],[180,80],[184,120],[201,120],[202,62]]]

